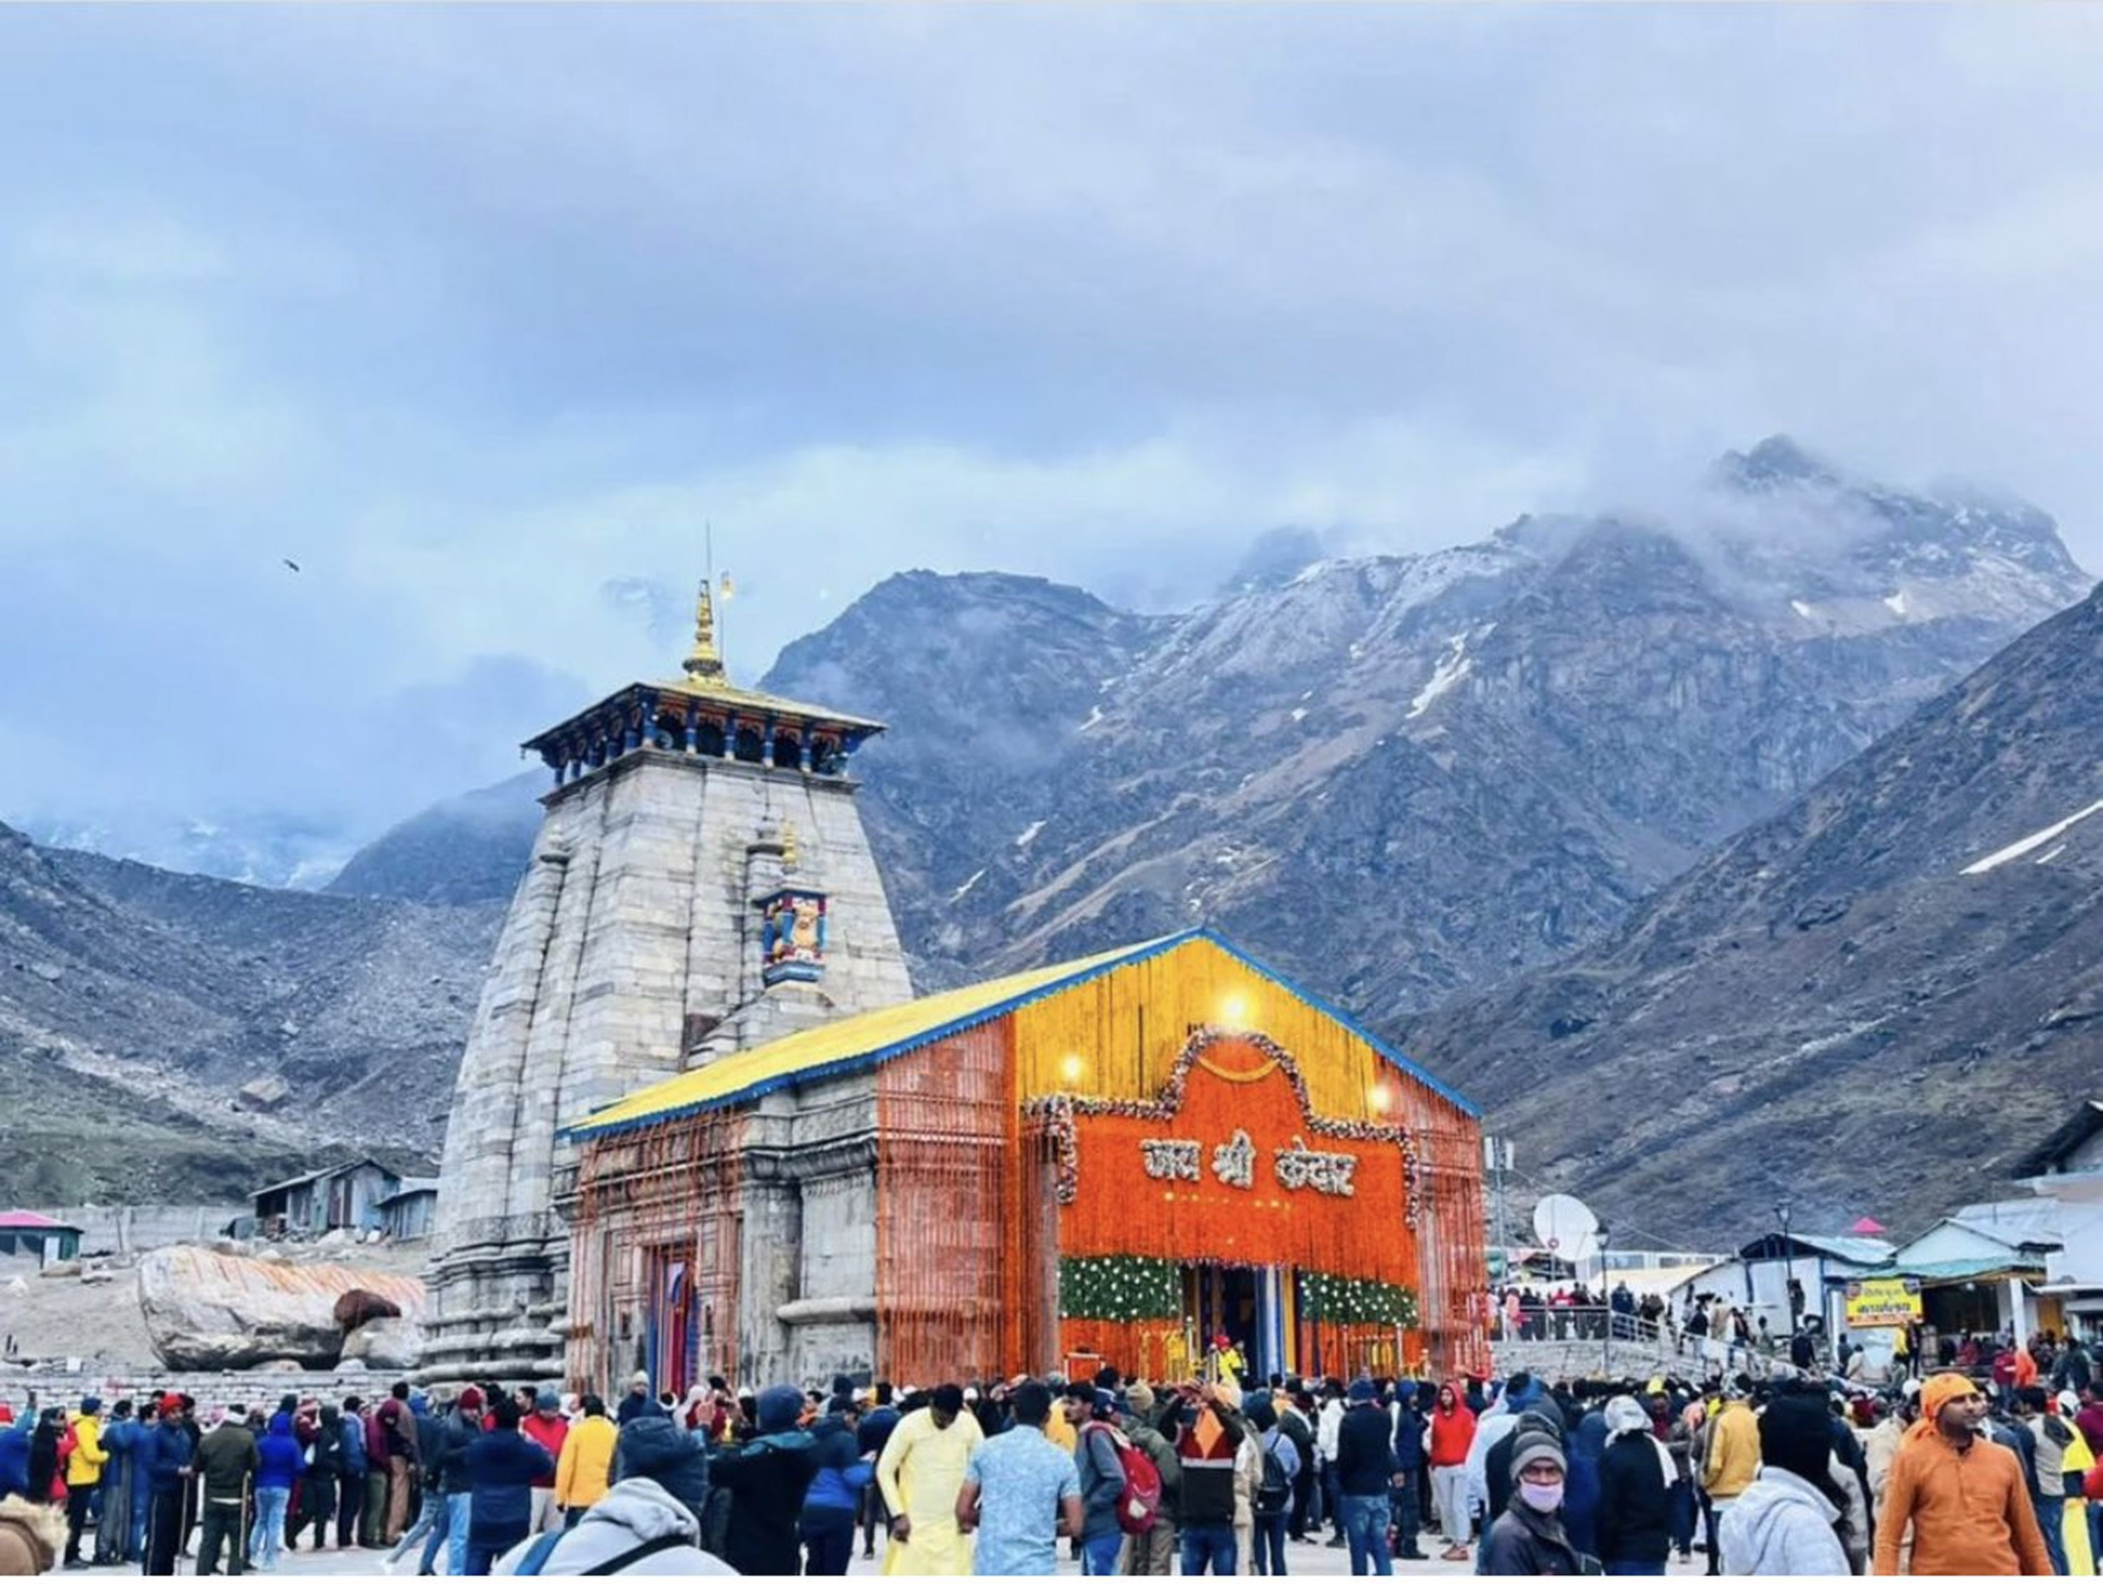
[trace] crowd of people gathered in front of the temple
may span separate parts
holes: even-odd
[[[1674,1555],[1712,1576],[2095,1571],[2086,1351],[2042,1380],[1998,1365],[1979,1351],[1878,1393],[1806,1372],[1161,1386],[1104,1367],[679,1397],[635,1376],[612,1407],[496,1384],[206,1414],[88,1395],[23,1422],[0,1405],[0,1571],[271,1571],[309,1544],[418,1573],[839,1576],[879,1531],[885,1573],[942,1576],[1043,1576],[1062,1546],[1087,1576],[1287,1573],[1312,1544],[1390,1573],[1432,1536],[1489,1576]]]

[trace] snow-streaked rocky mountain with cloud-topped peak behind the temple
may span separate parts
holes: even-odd
[[[1779,438],[1661,515],[1319,551],[1268,534],[1178,616],[908,572],[782,650],[761,686],[892,726],[856,766],[923,987],[1205,919],[1422,1010],[1600,936],[2088,587],[2036,507]],[[336,888],[509,896],[519,787],[517,827],[433,810]]]

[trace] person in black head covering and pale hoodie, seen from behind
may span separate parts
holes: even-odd
[[[1722,1571],[1758,1578],[1849,1573],[1836,1523],[1832,1430],[1815,1393],[1783,1393],[1760,1416],[1760,1473],[1722,1512]]]

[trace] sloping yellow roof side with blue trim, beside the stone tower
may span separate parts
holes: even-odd
[[[625,1132],[709,1106],[755,1100],[784,1083],[808,1083],[826,1077],[833,1069],[852,1069],[887,1056],[900,1056],[963,1029],[1005,1016],[1039,995],[1049,995],[1083,978],[1152,957],[1159,951],[1197,938],[1199,932],[1163,936],[1138,947],[1119,947],[1117,951],[1054,963],[1052,968],[1033,968],[1026,974],[991,978],[984,984],[923,995],[917,1001],[902,1001],[900,1006],[803,1029],[765,1045],[723,1056],[707,1067],[696,1067],[692,1073],[652,1083],[648,1090],[637,1090],[601,1111],[593,1111],[570,1128],[570,1138]]]

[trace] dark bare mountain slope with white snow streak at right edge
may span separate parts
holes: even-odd
[[[2103,587],[1409,1045],[1632,1235],[1920,1226],[2097,1092],[2099,745]]]

